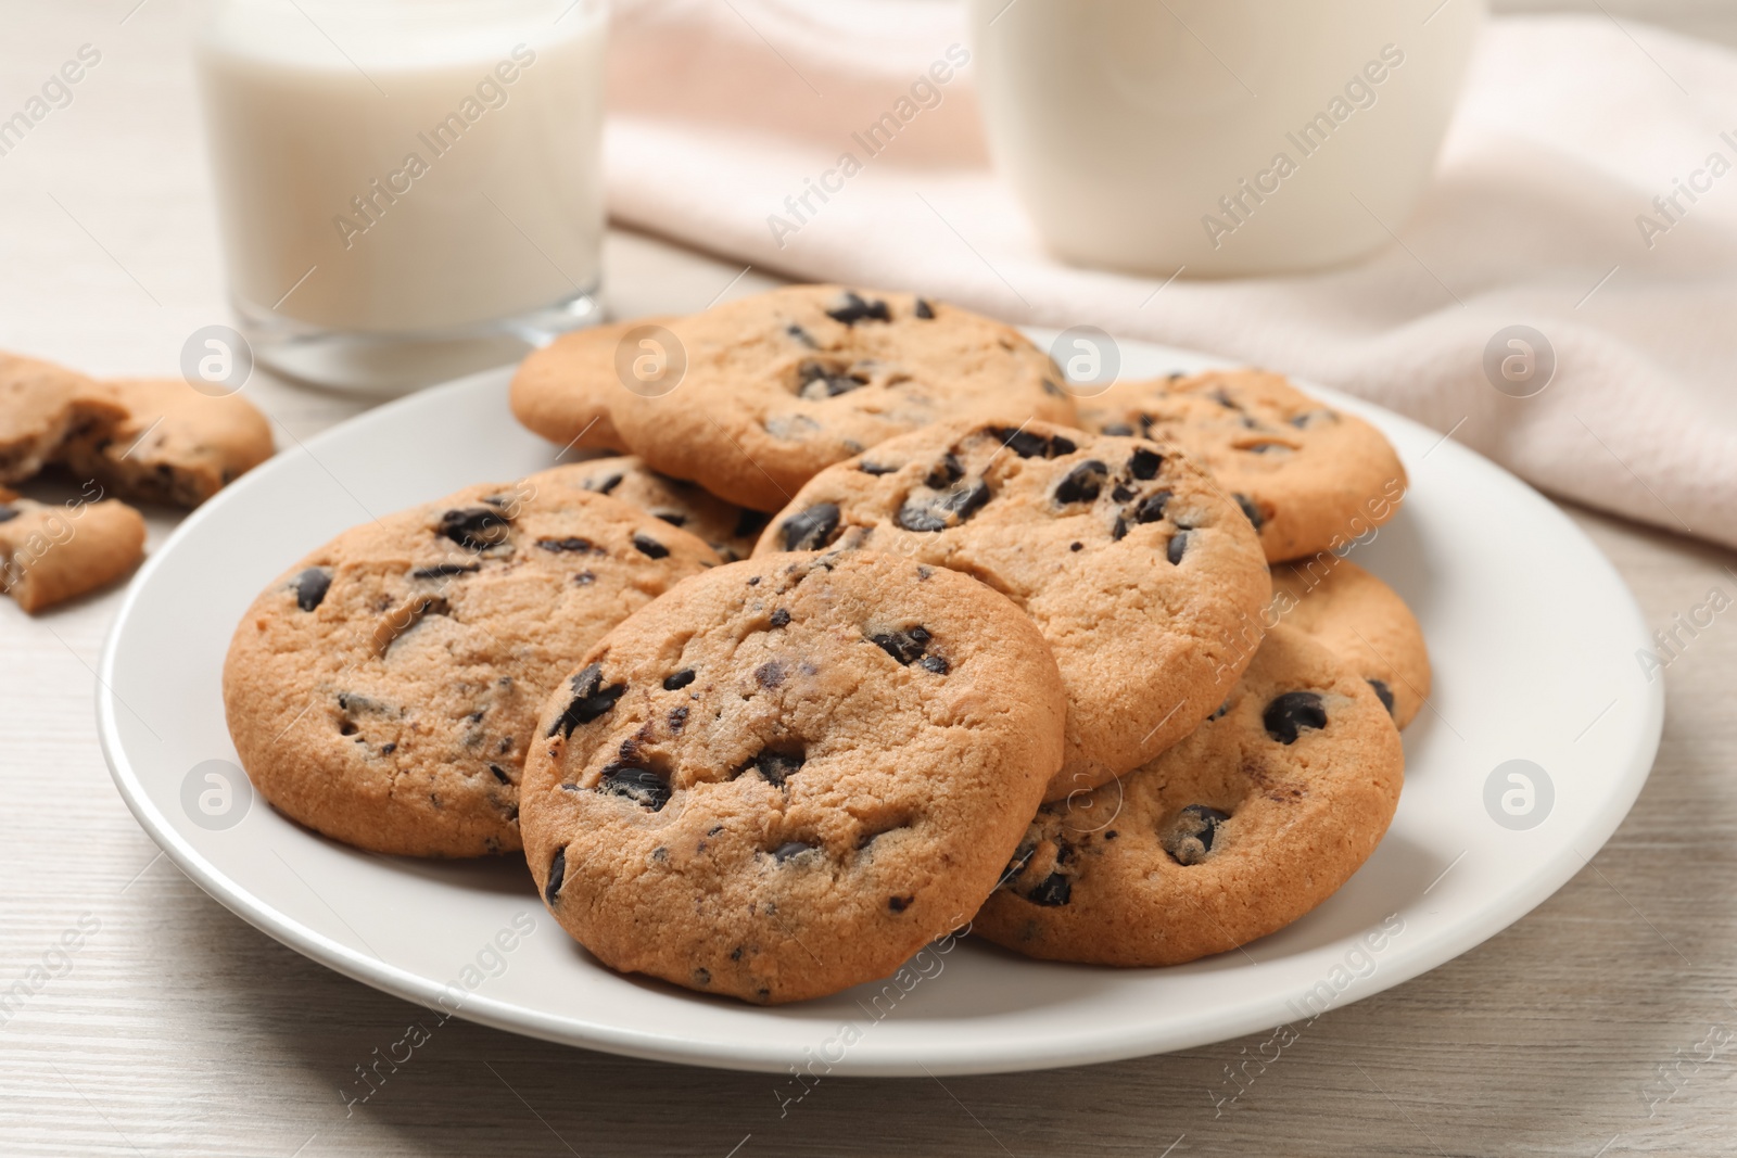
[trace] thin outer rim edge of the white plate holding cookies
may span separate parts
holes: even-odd
[[[1051,337],[1058,333],[1056,330],[1044,330],[1037,326],[1027,326],[1027,333],[1040,340],[1039,335]],[[1211,366],[1233,366],[1238,365],[1232,359],[1218,358],[1212,354],[1186,351],[1178,347],[1160,345],[1157,342],[1143,342],[1133,339],[1115,339],[1124,345],[1143,347],[1159,351],[1164,356],[1174,356],[1179,359],[1188,359],[1192,363],[1211,365]],[[429,398],[438,398],[446,392],[462,392],[467,389],[481,389],[486,382],[505,384],[511,377],[512,366],[497,366],[492,370],[483,370],[478,373],[464,375],[439,385],[406,394],[403,398],[393,399],[380,406],[361,411],[344,422],[339,422],[309,439],[299,439],[297,450],[313,457],[328,439],[342,438],[347,431],[360,422],[391,422],[393,415],[400,410],[412,406],[426,406]],[[1431,434],[1438,434],[1424,427],[1423,424],[1398,415],[1395,411],[1384,410],[1369,403],[1365,399],[1322,387],[1315,382],[1303,378],[1294,378],[1298,385],[1311,394],[1331,401],[1336,406],[1343,406],[1362,417],[1376,415],[1383,424],[1393,422],[1398,425],[1417,427]],[[1443,441],[1447,441],[1443,438]],[[1615,590],[1622,595],[1622,615],[1629,620],[1629,627],[1635,630],[1638,639],[1645,639],[1645,618],[1635,601],[1633,590],[1622,580],[1621,573],[1610,563],[1610,559],[1598,549],[1598,545],[1582,531],[1572,519],[1546,495],[1537,491],[1530,483],[1520,479],[1513,472],[1506,470],[1499,464],[1478,455],[1475,450],[1459,444],[1461,453],[1473,455],[1485,467],[1506,476],[1513,484],[1532,491],[1541,500],[1544,500],[1551,510],[1563,519],[1567,528],[1577,535],[1591,549],[1593,556],[1608,571],[1608,578],[1614,582]],[[281,458],[273,458],[257,467],[255,470],[264,476],[264,472],[276,472],[281,469],[290,469],[294,455],[285,453]],[[254,474],[254,472],[250,472]],[[261,932],[271,936],[273,939],[287,944],[297,953],[321,964],[339,974],[344,974],[354,981],[368,984],[375,990],[389,993],[393,997],[415,1002],[431,1010],[443,1010],[438,1003],[445,986],[427,979],[410,969],[387,964],[379,958],[370,958],[358,950],[327,938],[325,934],[302,925],[295,918],[273,908],[259,896],[241,887],[236,880],[224,875],[214,863],[207,861],[193,845],[186,840],[181,830],[162,814],[151,802],[144,783],[139,778],[137,769],[132,766],[125,747],[120,738],[118,696],[113,693],[115,682],[115,665],[118,661],[118,649],[122,634],[129,620],[137,611],[137,601],[144,590],[144,583],[158,569],[163,559],[170,556],[174,549],[179,547],[184,536],[196,533],[196,528],[212,517],[212,510],[221,510],[219,503],[241,502],[245,500],[247,477],[240,479],[234,488],[226,488],[222,493],[214,497],[210,502],[203,503],[200,509],[193,510],[181,524],[163,540],[151,557],[146,559],[144,566],[129,582],[122,602],[115,611],[115,618],[104,635],[102,655],[96,670],[96,722],[97,738],[101,743],[104,762],[109,767],[109,778],[113,780],[122,800],[127,804],[129,811],[141,828],[158,844],[158,847],[175,863],[175,866],[186,873],[200,889],[208,896],[217,899],[231,913],[254,925]],[[241,498],[236,498],[241,495]],[[1386,991],[1398,984],[1403,984],[1424,972],[1430,972],[1456,957],[1470,951],[1471,948],[1492,939],[1499,932],[1511,927],[1522,917],[1530,913],[1534,908],[1542,905],[1551,898],[1563,884],[1567,884],[1581,868],[1591,863],[1591,858],[1610,840],[1617,826],[1631,811],[1640,790],[1645,786],[1648,776],[1652,774],[1652,766],[1657,757],[1659,743],[1664,727],[1664,684],[1662,681],[1647,686],[1648,693],[1645,703],[1641,705],[1641,727],[1636,733],[1636,747],[1633,752],[1622,759],[1622,767],[1626,769],[1619,780],[1617,790],[1605,797],[1603,806],[1598,809],[1596,816],[1588,818],[1581,826],[1582,833],[1596,833],[1596,842],[1589,854],[1582,854],[1579,847],[1581,842],[1574,842],[1558,851],[1546,863],[1539,865],[1527,878],[1525,887],[1508,894],[1508,899],[1496,906],[1494,910],[1485,910],[1489,918],[1480,924],[1468,924],[1459,929],[1443,929],[1424,941],[1412,941],[1407,955],[1391,965],[1379,969],[1370,977],[1360,981],[1351,990],[1344,991],[1339,1000],[1334,1002],[1332,1009],[1341,1009],[1353,1002],[1374,997],[1376,993]],[[1145,1035],[1145,1043],[1141,1042],[1141,1033],[1138,1028],[1120,1028],[1110,1026],[1105,1031],[1101,1026],[1093,1026],[1080,1030],[1077,1033],[1068,1033],[1054,1040],[1054,1045],[1042,1050],[1040,1054],[1025,1052],[1002,1052],[997,1056],[983,1056],[981,1049],[971,1047],[969,1036],[962,1035],[952,1042],[931,1042],[922,1050],[922,1059],[903,1059],[898,1057],[848,1057],[846,1063],[835,1066],[834,1069],[842,1075],[851,1076],[912,1076],[924,1071],[935,1075],[987,1075],[987,1073],[1016,1073],[1016,1071],[1035,1071],[1035,1069],[1058,1069],[1080,1064],[1094,1064],[1106,1061],[1122,1061],[1129,1057],[1143,1057],[1159,1052],[1176,1052],[1183,1049],[1195,1049],[1200,1045],[1230,1040],[1259,1030],[1268,1030],[1280,1021],[1273,1021],[1280,1000],[1287,993],[1273,991],[1265,998],[1252,998],[1242,1002],[1235,1010],[1226,1014],[1223,1009],[1214,1009],[1211,1014],[1197,1012],[1193,1016],[1183,1017],[1183,1031],[1169,1031],[1164,1035],[1164,1042],[1153,1045],[1150,1040],[1150,1031]],[[1294,995],[1289,995],[1294,997]],[[622,1054],[631,1057],[641,1057],[650,1061],[664,1061],[676,1064],[693,1064],[716,1069],[733,1069],[733,1071],[759,1071],[759,1073],[783,1073],[790,1064],[790,1054],[785,1047],[778,1043],[763,1043],[752,1038],[743,1038],[731,1043],[728,1056],[719,1050],[714,1043],[705,1040],[683,1038],[679,1035],[670,1035],[657,1030],[643,1028],[622,1028],[618,1024],[608,1024],[591,1019],[577,1019],[568,1016],[554,1016],[547,1012],[538,1012],[526,1009],[523,1005],[509,1003],[493,998],[485,993],[471,993],[466,1000],[452,1010],[452,1016],[464,1017],[467,1021],[476,1021],[497,1030],[519,1033],[525,1036],[554,1042],[559,1045],[580,1047],[580,1049],[598,1049],[611,1054]],[[1174,1023],[1172,1023],[1174,1024]],[[830,1071],[829,1071],[830,1073]]]

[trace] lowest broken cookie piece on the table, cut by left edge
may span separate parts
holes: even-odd
[[[35,615],[130,573],[144,517],[116,498],[66,505],[0,488],[0,590]]]

